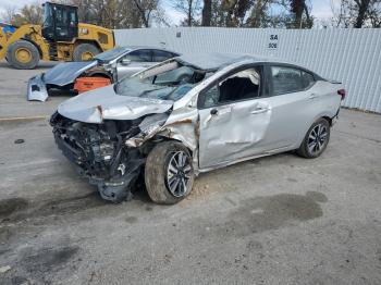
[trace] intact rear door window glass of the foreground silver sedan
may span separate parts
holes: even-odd
[[[272,66],[271,77],[274,95],[302,91],[315,83],[314,75],[286,66]]]

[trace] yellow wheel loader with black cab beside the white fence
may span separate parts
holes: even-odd
[[[86,61],[114,47],[111,29],[78,23],[77,8],[44,3],[44,24],[23,25],[14,33],[0,29],[0,60],[30,70],[39,60]]]

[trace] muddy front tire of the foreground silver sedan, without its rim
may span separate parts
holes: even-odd
[[[186,154],[186,161],[189,162],[190,171],[187,172],[189,178],[186,183],[186,193],[176,197],[169,189],[167,175],[172,157],[179,152]],[[145,183],[147,193],[153,202],[173,205],[183,200],[190,193],[193,182],[192,156],[189,150],[182,144],[164,141],[157,145],[148,154],[145,166]]]

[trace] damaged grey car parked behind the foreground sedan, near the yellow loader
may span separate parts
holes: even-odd
[[[174,57],[179,57],[179,53],[159,48],[118,47],[89,61],[63,62],[32,77],[26,97],[29,101],[44,102],[54,91],[76,95],[74,85],[79,77],[100,77],[114,83]]]

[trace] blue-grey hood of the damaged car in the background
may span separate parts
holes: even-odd
[[[85,71],[96,66],[98,61],[63,62],[44,74],[45,84],[64,86],[74,80]]]

